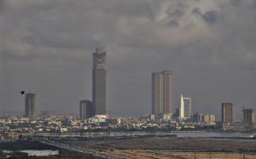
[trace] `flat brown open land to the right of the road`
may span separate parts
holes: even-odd
[[[256,140],[145,136],[67,140],[70,145],[125,158],[256,158]]]

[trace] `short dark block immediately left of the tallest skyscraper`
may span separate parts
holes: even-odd
[[[93,116],[92,102],[90,100],[81,100],[79,105],[80,119],[88,119]]]

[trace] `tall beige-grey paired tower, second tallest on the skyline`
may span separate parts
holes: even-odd
[[[172,113],[172,72],[152,73],[152,114]]]

